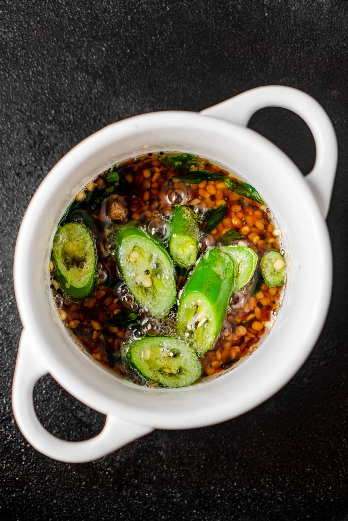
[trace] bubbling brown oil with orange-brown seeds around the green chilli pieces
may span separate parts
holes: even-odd
[[[180,172],[163,162],[164,157],[162,152],[150,153],[100,173],[77,194],[63,217],[60,224],[83,222],[95,239],[98,285],[89,300],[71,302],[59,287],[54,263],[50,262],[53,297],[65,327],[100,364],[139,384],[149,382],[122,360],[121,344],[129,333],[138,339],[146,333],[175,337],[176,307],[167,318],[159,320],[146,313],[128,292],[115,262],[114,231],[120,224],[137,221],[142,228],[150,226],[154,237],[167,247],[166,223],[170,223],[173,205],[189,205],[201,219],[200,254],[221,244],[248,246],[257,253],[254,277],[245,289],[233,294],[217,342],[199,357],[203,376],[219,373],[251,352],[271,324],[271,318],[277,316],[283,289],[283,286],[269,288],[258,270],[265,252],[280,251],[281,232],[275,229],[265,205],[231,191],[221,179],[205,179],[199,184],[183,182],[178,176]],[[197,158],[196,163],[189,167],[189,172],[204,170],[233,178],[230,172],[204,158]],[[221,205],[227,210],[225,216],[210,233],[205,233],[205,217]],[[176,266],[178,295],[191,270]],[[146,277],[142,283],[146,287]],[[150,385],[157,384],[150,382]]]

